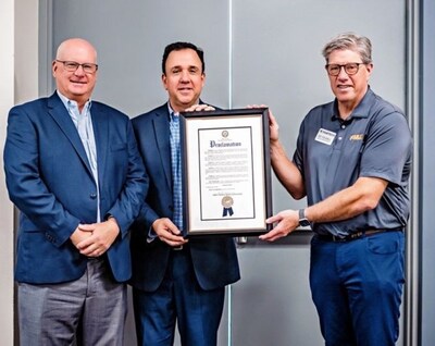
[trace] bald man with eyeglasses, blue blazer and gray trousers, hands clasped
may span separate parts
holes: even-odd
[[[91,100],[97,69],[88,41],[63,41],[55,92],[9,113],[21,345],[123,345],[127,233],[148,180],[128,116]]]

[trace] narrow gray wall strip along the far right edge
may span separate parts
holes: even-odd
[[[421,147],[420,160],[421,170],[419,172],[421,198],[421,210],[419,214],[421,220],[421,265],[420,276],[421,285],[421,316],[419,323],[421,325],[421,344],[435,345],[435,212],[434,212],[434,191],[435,191],[435,2],[433,0],[422,1],[422,21],[421,29],[423,37],[422,57],[421,57]]]

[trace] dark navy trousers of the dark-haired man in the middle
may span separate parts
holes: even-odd
[[[176,323],[182,345],[216,345],[224,298],[225,287],[203,291],[198,285],[188,249],[172,250],[156,292],[133,288],[138,345],[173,345]]]

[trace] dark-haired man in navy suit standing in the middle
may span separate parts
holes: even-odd
[[[175,324],[186,346],[216,345],[225,285],[239,280],[233,238],[183,234],[179,112],[199,104],[206,82],[203,52],[169,45],[162,83],[169,101],[133,120],[149,174],[149,191],[132,231],[133,299],[139,345],[173,345]]]

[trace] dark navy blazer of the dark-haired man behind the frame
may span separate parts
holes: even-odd
[[[163,280],[171,248],[156,238],[148,243],[151,224],[173,217],[170,114],[167,103],[132,120],[149,177],[149,189],[139,217],[132,225],[133,276],[130,284],[156,291]],[[232,237],[191,237],[188,243],[195,274],[203,289],[214,289],[240,279]]]

